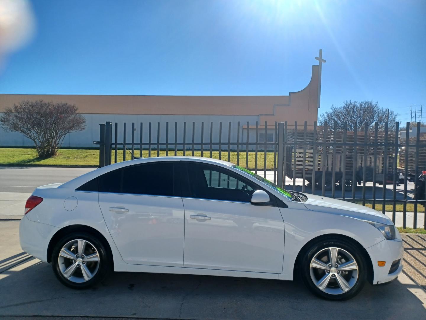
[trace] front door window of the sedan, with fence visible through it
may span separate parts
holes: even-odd
[[[217,166],[189,163],[191,198],[250,202],[258,187],[248,180]]]

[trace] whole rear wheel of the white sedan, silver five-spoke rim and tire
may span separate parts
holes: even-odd
[[[52,252],[55,276],[69,288],[89,288],[104,279],[110,257],[102,241],[89,233],[64,236]]]

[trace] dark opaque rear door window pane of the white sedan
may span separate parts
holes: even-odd
[[[147,163],[124,168],[122,192],[173,196],[173,163]]]

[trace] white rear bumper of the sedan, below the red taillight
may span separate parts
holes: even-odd
[[[47,247],[58,230],[59,228],[49,224],[31,221],[24,215],[19,223],[19,241],[22,250],[47,262]]]

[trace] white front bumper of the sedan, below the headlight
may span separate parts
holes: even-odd
[[[374,244],[374,246],[366,248],[366,250],[373,264],[373,285],[389,282],[397,278],[402,271],[404,255],[403,243],[400,239],[383,240]],[[400,259],[398,268],[391,270],[392,263],[398,259]],[[383,267],[379,267],[378,261],[385,261],[386,264]]]

